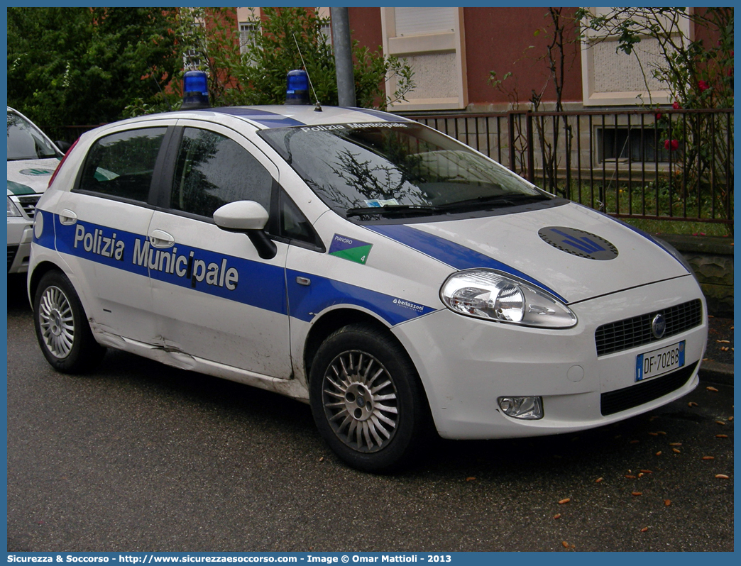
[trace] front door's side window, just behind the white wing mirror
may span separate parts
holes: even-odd
[[[221,134],[185,128],[170,192],[170,208],[213,217],[234,201],[270,210],[273,177],[244,147]]]

